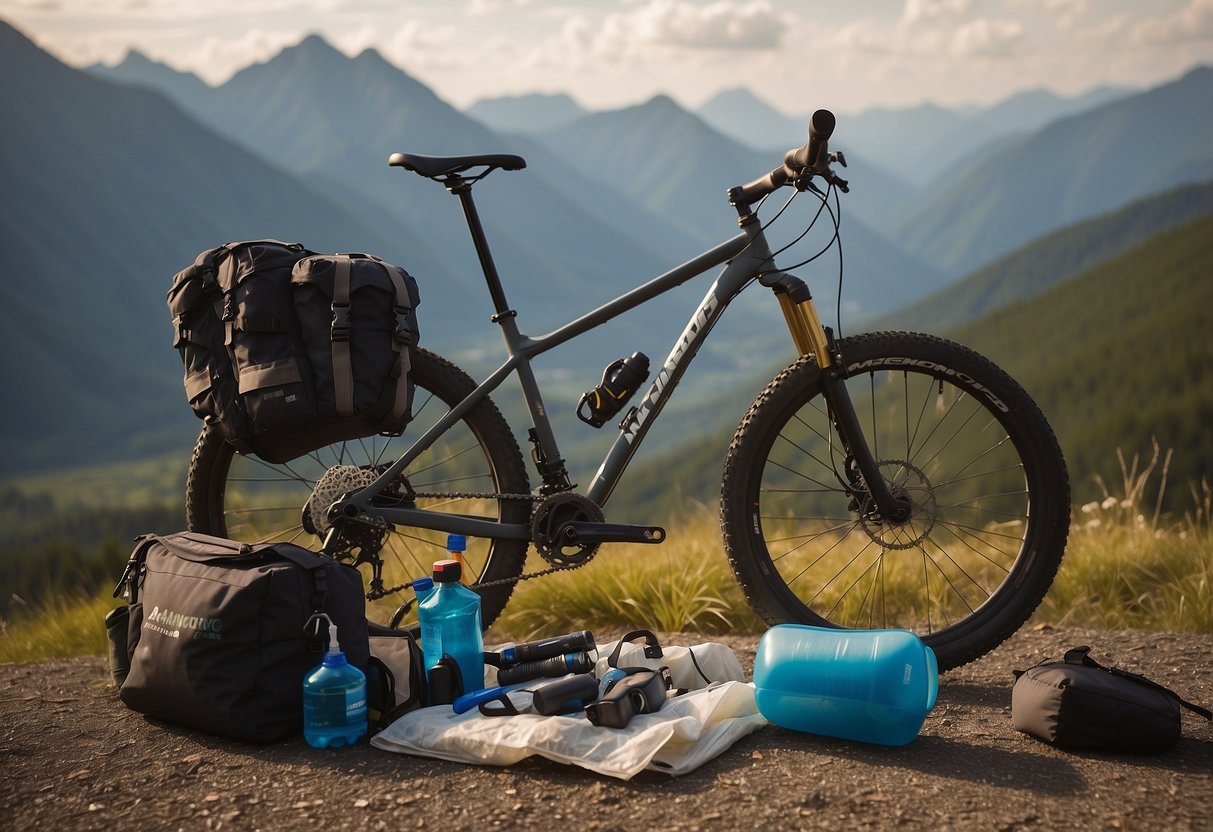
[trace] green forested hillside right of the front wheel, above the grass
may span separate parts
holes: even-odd
[[[1171,461],[1164,505],[1213,478],[1213,216],[955,332],[1019,378],[1061,440],[1076,502],[1120,485],[1120,449]]]

